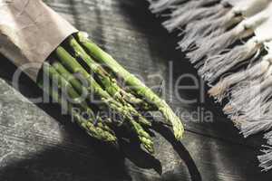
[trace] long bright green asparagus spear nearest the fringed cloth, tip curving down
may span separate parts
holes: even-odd
[[[151,89],[145,86],[139,79],[126,71],[118,62],[116,62],[110,54],[102,51],[95,43],[86,38],[83,33],[77,33],[77,40],[87,52],[95,58],[96,61],[107,65],[112,72],[123,79],[129,88],[139,97],[153,103],[158,110],[164,115],[165,119],[172,124],[175,137],[180,139],[184,133],[184,127],[175,113],[170,109],[170,106],[161,100]]]

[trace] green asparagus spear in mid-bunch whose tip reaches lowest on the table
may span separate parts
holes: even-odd
[[[66,52],[63,47],[59,46],[55,50],[55,54],[63,66],[66,67],[72,73],[80,73],[83,75],[85,80],[89,81],[89,86],[87,90],[93,95],[100,96],[102,102],[109,106],[112,110],[116,110],[124,117],[125,120],[129,121],[131,128],[137,133],[138,138],[141,140],[142,145],[149,152],[153,152],[153,143],[151,141],[151,136],[141,127],[139,123],[134,120],[135,115],[131,115],[130,110],[124,107],[120,102],[113,100],[112,96],[108,94],[107,91],[102,90],[102,87],[92,78],[92,76],[83,69],[82,65],[77,62],[73,56]],[[141,119],[139,119],[141,120]],[[143,122],[141,122],[143,123]]]

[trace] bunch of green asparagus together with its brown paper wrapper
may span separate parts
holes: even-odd
[[[151,121],[145,113],[160,111],[175,137],[182,138],[184,128],[170,106],[92,43],[87,33],[79,33],[41,0],[0,4],[0,52],[90,136],[116,145],[121,128],[153,153]]]

